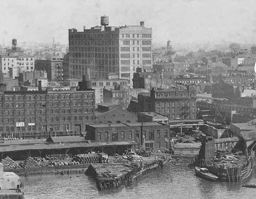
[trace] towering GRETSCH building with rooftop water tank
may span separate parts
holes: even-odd
[[[106,78],[117,73],[132,84],[136,68],[151,71],[152,29],[140,26],[108,26],[108,17],[101,18],[101,26],[83,32],[69,29],[68,79],[81,78],[90,70],[92,78]]]

